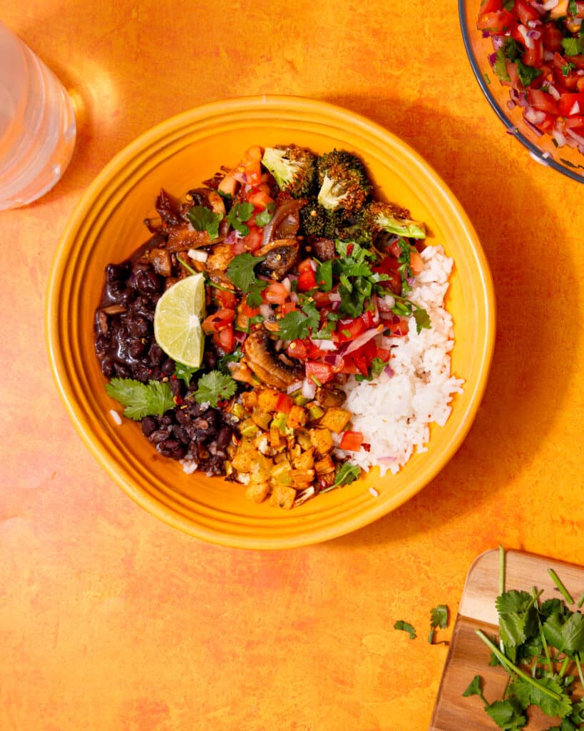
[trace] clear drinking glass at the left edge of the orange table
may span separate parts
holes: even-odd
[[[55,185],[75,135],[64,86],[0,22],[0,211],[37,200]]]

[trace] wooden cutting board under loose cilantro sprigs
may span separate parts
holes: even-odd
[[[553,596],[561,599],[548,569],[556,572],[575,602],[584,591],[582,567],[520,551],[507,551],[505,564],[506,591],[531,591],[535,586],[538,591],[544,590],[542,601]],[[481,675],[488,702],[502,697],[507,673],[501,667],[489,667],[491,652],[475,634],[476,629],[482,629],[488,636],[497,635],[495,599],[498,594],[499,551],[489,550],[475,560],[466,577],[429,731],[496,731],[497,726],[485,713],[480,698],[465,698],[462,694],[472,678]],[[532,713],[530,709],[529,716],[529,731],[554,725],[543,713]]]

